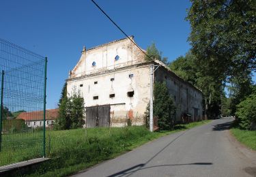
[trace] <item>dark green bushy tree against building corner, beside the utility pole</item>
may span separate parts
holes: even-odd
[[[158,127],[161,130],[173,128],[173,116],[176,113],[176,106],[173,97],[169,95],[166,83],[156,82],[154,84],[153,116],[158,117]],[[150,105],[145,112],[147,126],[149,126]]]

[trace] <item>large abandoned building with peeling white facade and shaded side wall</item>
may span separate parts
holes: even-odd
[[[134,37],[130,37],[134,41]],[[188,116],[202,118],[202,93],[175,75],[160,61],[145,61],[145,54],[130,39],[119,39],[94,48],[83,48],[81,58],[70,71],[68,95],[80,90],[85,100],[86,126],[122,127],[145,123],[150,102],[150,65],[159,65],[154,82],[166,82],[177,106],[175,121]]]

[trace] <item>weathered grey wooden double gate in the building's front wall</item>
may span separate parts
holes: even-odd
[[[86,127],[109,127],[110,106],[86,108]]]

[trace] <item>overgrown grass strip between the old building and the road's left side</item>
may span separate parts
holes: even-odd
[[[106,159],[113,159],[163,135],[203,125],[209,121],[176,126],[173,131],[153,133],[143,126],[112,128],[111,131],[109,128],[48,131],[46,150],[51,160],[42,163],[37,170],[28,175],[67,176]]]

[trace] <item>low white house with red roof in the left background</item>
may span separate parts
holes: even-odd
[[[58,116],[58,109],[46,110],[45,126],[51,127]],[[18,119],[25,120],[27,127],[36,128],[44,126],[44,111],[21,112]]]

